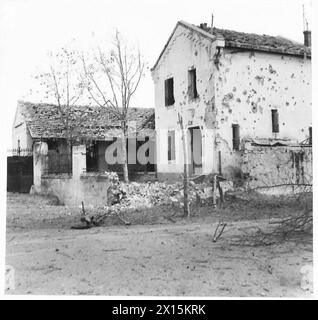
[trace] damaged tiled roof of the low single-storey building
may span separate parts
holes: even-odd
[[[53,104],[18,102],[32,138],[66,138],[67,130],[59,108]],[[65,112],[66,109],[64,109]],[[129,108],[129,134],[152,135],[155,129],[153,108]],[[107,108],[72,106],[68,111],[68,127],[73,137],[106,140],[121,134],[121,125]]]

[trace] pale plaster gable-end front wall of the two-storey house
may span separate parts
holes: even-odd
[[[200,126],[202,129],[203,172],[212,170],[213,134],[207,132],[205,120],[207,110],[213,105],[213,43],[189,29],[178,26],[158,66],[153,71],[155,85],[157,171],[165,173],[183,172],[182,134],[178,124],[178,113],[184,118],[186,127]],[[188,98],[188,70],[196,68],[199,97]],[[174,79],[173,106],[165,106],[164,81]],[[210,122],[212,124],[212,122]],[[211,127],[211,126],[210,126]],[[168,130],[176,130],[176,160],[168,162]]]

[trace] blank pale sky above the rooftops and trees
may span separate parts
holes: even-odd
[[[118,28],[139,44],[152,66],[178,20],[210,24],[212,13],[219,28],[302,42],[303,3],[311,27],[309,0],[0,0],[0,98],[7,145],[16,101],[32,100],[31,75],[43,66],[48,51],[73,39],[85,49],[109,39]],[[154,106],[149,73],[133,106]]]

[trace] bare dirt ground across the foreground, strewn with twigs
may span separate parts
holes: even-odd
[[[312,241],[244,246],[242,230],[298,208],[244,201],[215,212],[193,210],[191,221],[171,208],[110,219],[103,227],[73,230],[79,208],[55,199],[8,194],[6,265],[14,269],[7,294],[107,296],[302,297],[303,266],[312,266]],[[151,218],[149,218],[151,217]],[[213,242],[218,221],[227,223]],[[143,223],[143,224],[141,224]],[[116,225],[114,225],[116,224]]]

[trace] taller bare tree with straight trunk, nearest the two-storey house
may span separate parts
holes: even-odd
[[[139,49],[129,48],[118,31],[109,52],[97,48],[90,62],[84,54],[81,60],[84,70],[83,81],[90,99],[100,107],[108,108],[120,123],[124,181],[129,182],[126,149],[128,113],[131,99],[144,75],[145,62]]]

